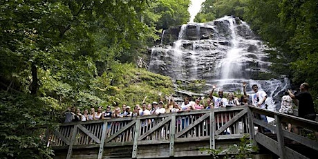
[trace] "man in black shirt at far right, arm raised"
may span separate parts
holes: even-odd
[[[294,100],[298,100],[298,116],[300,118],[305,118],[308,120],[315,121],[316,113],[314,109],[314,102],[312,96],[308,91],[309,84],[303,83],[299,86],[299,93],[292,93],[291,90],[288,90],[288,95]],[[296,134],[299,134],[299,129],[297,126],[292,127],[292,131]],[[318,139],[318,132],[315,132],[316,138]]]

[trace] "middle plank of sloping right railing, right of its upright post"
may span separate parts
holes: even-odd
[[[297,135],[296,133],[290,133],[286,130],[283,130],[283,135],[286,138],[290,138],[291,140],[299,142],[299,143],[305,145],[306,147],[309,147],[311,149],[315,149],[315,151],[318,151],[318,142],[316,142],[315,140],[310,140],[306,137],[303,137],[301,135]]]

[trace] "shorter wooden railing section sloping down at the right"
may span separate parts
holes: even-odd
[[[296,134],[286,131],[282,129],[282,123],[290,123],[294,126],[297,126],[299,130],[306,129],[306,131],[315,134],[318,132],[318,122],[312,120],[306,120],[303,118],[298,118],[294,115],[287,115],[284,113],[268,111],[265,109],[259,109],[254,106],[250,106],[249,109],[250,114],[263,114],[268,117],[274,118],[274,125],[268,124],[256,118],[256,116],[251,115],[252,123],[259,126],[259,129],[269,129],[271,131],[270,135],[274,136],[274,138],[270,138],[268,135],[264,133],[256,133],[254,140],[259,144],[262,144],[264,147],[276,153],[280,158],[311,158],[312,154],[303,154],[294,147],[292,147],[295,143],[307,147],[308,151],[313,153],[318,152],[318,142],[315,139],[310,139],[302,134]],[[259,130],[261,131],[261,130]],[[251,137],[252,138],[252,137]],[[315,136],[313,137],[315,138]],[[286,142],[286,140],[292,140],[293,144]],[[309,156],[309,157],[308,157]]]

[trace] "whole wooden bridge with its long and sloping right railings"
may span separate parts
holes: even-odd
[[[253,113],[274,118],[279,127],[254,118]],[[55,150],[55,158],[204,158],[210,154],[202,153],[200,148],[227,148],[238,144],[243,135],[250,135],[252,141],[276,154],[273,156],[277,158],[315,158],[318,155],[315,139],[282,130],[281,122],[318,131],[318,122],[254,106],[234,106],[66,123],[50,132],[48,145]],[[272,133],[265,135],[254,131],[254,124]],[[291,140],[300,144],[294,147]]]

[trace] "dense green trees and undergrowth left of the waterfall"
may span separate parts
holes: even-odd
[[[49,158],[46,128],[39,128],[61,121],[68,106],[133,106],[144,96],[152,102],[173,93],[169,77],[129,63],[159,38],[162,27],[185,23],[188,4],[1,1],[0,158]]]

